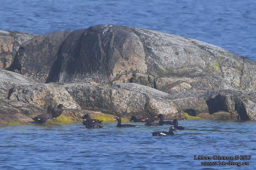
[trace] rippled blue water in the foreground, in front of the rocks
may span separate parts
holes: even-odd
[[[256,122],[181,120],[184,131],[174,136],[152,136],[170,125],[102,129],[69,125],[0,127],[0,169],[256,169]],[[204,162],[248,162],[248,166],[202,165]],[[251,155],[250,160],[213,160],[213,156]]]

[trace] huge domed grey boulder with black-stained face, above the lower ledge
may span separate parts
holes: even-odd
[[[51,68],[47,82],[138,83],[167,93],[171,90],[256,90],[255,62],[187,37],[117,25],[96,25],[65,33],[65,36],[59,34],[43,35],[49,37],[58,52],[53,50],[46,55],[43,49],[50,43],[33,39],[27,43],[33,44],[33,50],[30,45],[23,45],[15,60],[20,68],[14,62],[13,69],[21,70],[34,80],[43,76],[44,81],[47,71],[32,67],[31,63],[28,67],[24,61],[35,61],[33,58],[37,56],[36,60],[45,58],[46,62],[49,56],[57,54],[53,65],[43,62]],[[37,54],[27,55],[24,51],[37,51]]]

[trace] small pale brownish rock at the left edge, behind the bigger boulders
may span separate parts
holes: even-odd
[[[0,69],[10,67],[20,45],[35,36],[31,33],[0,30]]]

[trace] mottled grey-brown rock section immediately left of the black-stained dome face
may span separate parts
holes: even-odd
[[[10,70],[45,83],[53,63],[57,59],[57,52],[71,31],[61,31],[38,35],[20,46],[17,55],[10,66]]]

